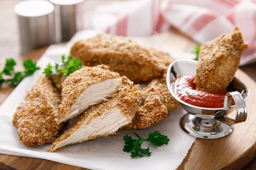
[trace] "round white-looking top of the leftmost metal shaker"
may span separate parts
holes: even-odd
[[[53,4],[46,0],[26,0],[18,3],[14,8],[15,13],[23,17],[43,16],[53,10]]]

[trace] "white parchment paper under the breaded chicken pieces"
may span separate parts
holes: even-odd
[[[61,55],[69,53],[73,42],[93,37],[95,34],[96,31],[82,31],[76,34],[67,46],[50,46],[38,61],[38,65],[45,68],[49,62],[60,62]],[[147,142],[143,144],[143,147],[151,148],[150,157],[132,159],[129,156],[130,153],[122,151],[123,136],[128,134],[135,138],[133,130],[117,131],[116,135],[68,146],[53,153],[46,152],[50,144],[26,146],[19,140],[17,129],[12,125],[12,116],[26,96],[26,91],[32,88],[42,71],[43,69],[24,79],[0,106],[0,153],[49,159],[95,170],[172,170],[183,161],[195,141],[195,137],[186,134],[179,126],[180,118],[185,114],[185,111],[179,107],[176,111],[169,113],[163,121],[146,129],[136,130],[136,133],[145,138],[154,130],[159,130],[160,133],[169,137],[169,144],[161,147],[155,147]]]

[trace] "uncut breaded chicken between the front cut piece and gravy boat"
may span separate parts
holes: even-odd
[[[170,94],[166,84],[166,74],[163,78],[153,79],[142,89],[142,103],[135,114],[132,123],[122,130],[145,129],[167,117],[167,113],[175,111],[179,102]]]

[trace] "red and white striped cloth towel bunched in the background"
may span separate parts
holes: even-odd
[[[249,44],[241,65],[256,61],[256,0],[131,0],[96,8],[93,28],[146,36],[174,26],[198,43],[239,26]]]

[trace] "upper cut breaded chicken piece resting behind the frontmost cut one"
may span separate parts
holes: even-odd
[[[119,74],[109,71],[106,65],[84,67],[70,74],[61,85],[59,122],[66,122],[107,100],[121,83]]]

